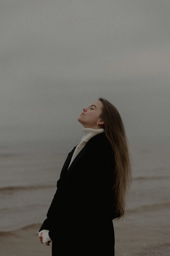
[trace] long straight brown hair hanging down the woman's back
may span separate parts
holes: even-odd
[[[123,121],[119,111],[108,100],[98,98],[103,103],[101,119],[104,121],[106,138],[109,140],[115,157],[115,183],[112,189],[115,191],[116,213],[120,219],[124,216],[126,206],[126,192],[128,193],[132,183],[132,167],[130,162],[129,143],[126,136]]]

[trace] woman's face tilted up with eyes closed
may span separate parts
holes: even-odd
[[[83,114],[78,117],[78,122],[80,122],[84,128],[99,129],[104,128],[104,123],[100,118],[102,113],[102,102],[100,100],[95,101],[88,108],[83,109]],[[97,126],[99,123],[100,126]]]

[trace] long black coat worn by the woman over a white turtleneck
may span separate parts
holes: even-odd
[[[115,160],[105,132],[93,136],[68,168],[62,168],[57,190],[39,231],[52,240],[52,256],[114,256]],[[68,169],[68,170],[67,170]],[[113,202],[111,202],[113,201]]]

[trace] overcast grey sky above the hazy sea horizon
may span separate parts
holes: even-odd
[[[99,97],[129,141],[170,139],[169,12],[165,0],[1,0],[1,146],[75,146]]]

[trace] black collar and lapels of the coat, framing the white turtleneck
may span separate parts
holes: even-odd
[[[76,149],[76,146],[72,149],[72,151],[68,154],[67,159],[64,163],[64,166],[62,168],[61,174],[60,174],[60,178],[61,179],[66,179],[68,177],[68,175],[70,174],[70,172],[72,171],[72,169],[74,168],[74,166],[76,165],[76,163],[81,159],[81,157],[86,153],[86,151],[89,150],[89,148],[93,145],[96,144],[96,146],[100,145],[101,143],[108,143],[108,139],[106,138],[105,132],[99,133],[95,136],[93,136],[87,143],[86,145],[80,150],[80,152],[78,153],[78,155],[75,157],[75,159],[73,160],[73,162],[70,164],[71,158],[73,156],[73,153]],[[68,168],[69,166],[69,168]]]

